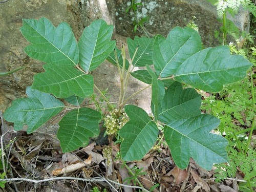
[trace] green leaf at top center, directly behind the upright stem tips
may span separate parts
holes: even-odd
[[[134,40],[127,38],[127,45],[130,57],[133,58],[138,47],[138,51],[133,60],[133,66],[145,67],[153,64],[153,38],[135,36]]]

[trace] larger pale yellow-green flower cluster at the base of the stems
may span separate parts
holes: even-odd
[[[105,117],[106,134],[110,136],[116,135],[128,120],[129,118],[125,112],[118,113],[117,109],[110,112]]]

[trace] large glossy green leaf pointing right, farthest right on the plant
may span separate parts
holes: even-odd
[[[252,64],[241,55],[230,55],[227,46],[204,49],[189,57],[177,69],[174,76],[207,92],[218,92],[223,84],[243,79]]]

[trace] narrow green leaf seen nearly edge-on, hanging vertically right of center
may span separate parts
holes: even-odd
[[[158,80],[156,77],[155,72],[149,67],[146,66],[146,69],[148,73],[151,74],[152,76],[152,99],[151,102],[154,104],[153,108],[153,114],[155,117],[155,122],[158,120],[158,109],[159,109],[159,104],[162,102],[163,97],[164,97],[164,84],[162,81]]]

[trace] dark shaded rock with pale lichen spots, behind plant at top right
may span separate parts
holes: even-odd
[[[148,16],[148,22],[144,23],[145,30],[150,36],[161,34],[167,36],[170,30],[176,26],[185,27],[188,23],[194,22],[203,44],[207,47],[220,45],[219,39],[215,38],[215,31],[220,30],[222,24],[218,22],[216,6],[206,0],[144,0],[143,6],[138,6],[137,16],[130,9],[125,13],[131,1],[114,0],[116,2],[116,32],[123,36],[145,35],[144,31],[138,27],[138,31],[133,33],[133,20],[141,20]],[[249,31],[249,13],[240,9],[237,16],[228,17],[233,20],[240,30]]]

